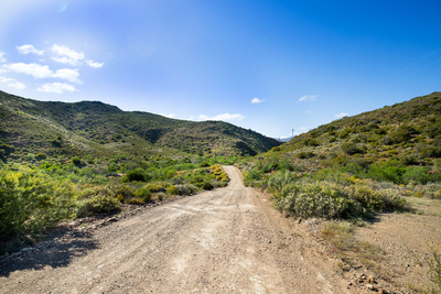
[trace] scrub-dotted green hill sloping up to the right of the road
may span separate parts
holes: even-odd
[[[300,172],[341,168],[401,184],[441,178],[440,157],[441,92],[432,92],[320,126],[252,162],[267,166],[266,171],[277,170],[284,162]],[[405,179],[410,167],[413,168],[413,175]]]

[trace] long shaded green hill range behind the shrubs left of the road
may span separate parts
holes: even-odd
[[[0,91],[3,156],[61,154],[256,155],[280,143],[223,121],[185,121],[122,111],[99,101],[37,101]]]

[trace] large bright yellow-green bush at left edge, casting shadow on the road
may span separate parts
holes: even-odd
[[[69,181],[54,181],[39,170],[4,166],[0,170],[0,236],[37,231],[73,217],[75,198]]]

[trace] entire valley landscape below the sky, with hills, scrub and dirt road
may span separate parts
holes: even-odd
[[[281,143],[0,92],[0,291],[438,293],[440,113],[433,92]]]

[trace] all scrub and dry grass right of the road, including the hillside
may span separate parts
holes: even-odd
[[[441,216],[440,126],[433,92],[321,126],[238,164],[245,185],[268,192],[284,216],[325,219],[320,237],[342,271],[363,264],[384,275],[384,252],[355,232],[381,211]],[[440,293],[439,247],[419,262],[433,282],[423,293]]]

